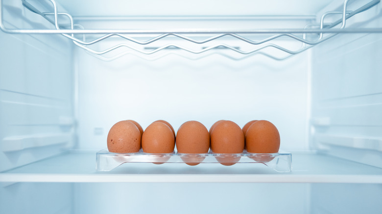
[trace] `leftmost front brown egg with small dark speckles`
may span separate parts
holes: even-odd
[[[141,149],[141,132],[130,121],[119,121],[110,128],[107,149],[117,153],[138,152]]]

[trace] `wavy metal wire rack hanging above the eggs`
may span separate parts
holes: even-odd
[[[173,30],[167,30],[167,29],[161,30],[161,31],[157,31],[157,30],[120,30],[120,29],[117,29],[117,30],[112,30],[112,29],[110,29],[110,30],[89,30],[88,29],[87,30],[87,29],[84,29],[79,24],[74,24],[73,18],[69,13],[58,12],[57,4],[54,0],[46,0],[46,1],[49,1],[52,4],[53,11],[41,12],[40,10],[36,9],[32,4],[30,4],[27,0],[22,0],[22,3],[24,5],[24,7],[26,7],[30,11],[41,15],[46,20],[48,20],[49,22],[54,24],[55,29],[7,29],[7,28],[5,28],[3,25],[3,20],[2,20],[2,9],[3,9],[2,4],[3,3],[2,3],[2,0],[0,0],[0,28],[1,28],[1,30],[3,30],[6,33],[15,33],[15,34],[61,34],[64,37],[72,40],[72,42],[76,46],[83,48],[87,52],[95,55],[97,58],[105,60],[105,61],[112,61],[112,60],[118,59],[124,55],[131,54],[132,51],[133,52],[135,51],[136,53],[140,53],[142,55],[152,55],[155,53],[162,52],[163,50],[169,50],[169,49],[170,50],[172,50],[172,49],[176,50],[176,51],[172,50],[171,52],[166,52],[165,54],[160,55],[156,58],[150,58],[150,60],[156,60],[156,59],[164,57],[168,54],[178,53],[179,52],[178,50],[186,51],[186,52],[189,52],[192,54],[201,54],[201,53],[207,53],[207,52],[211,52],[211,50],[217,50],[217,49],[221,49],[221,48],[234,51],[234,52],[239,53],[243,56],[261,54],[261,55],[264,55],[266,57],[272,58],[274,60],[281,61],[281,60],[285,60],[285,59],[287,59],[287,58],[289,58],[295,54],[301,53],[301,52],[309,49],[313,45],[316,45],[318,43],[322,43],[322,42],[334,37],[335,35],[337,35],[339,33],[382,33],[382,28],[345,28],[347,19],[374,7],[375,5],[377,5],[380,2],[380,0],[372,0],[372,1],[366,3],[365,5],[359,7],[356,10],[353,10],[353,11],[347,10],[349,0],[345,0],[343,5],[342,5],[341,11],[326,12],[321,16],[319,23],[309,23],[303,29],[257,29],[257,30],[236,30],[236,31],[233,31],[233,30],[179,29],[176,32],[174,32]],[[326,23],[325,18],[327,16],[333,15],[333,14],[337,14],[337,15],[339,14],[339,15],[341,15],[341,18],[338,19],[337,21],[333,21],[331,23]],[[70,20],[69,29],[62,29],[63,27],[67,26],[68,24],[58,23],[58,17],[59,16],[67,17],[67,19]],[[53,19],[51,17],[53,17]],[[339,25],[339,27],[336,27],[338,25]],[[75,28],[79,28],[79,29],[75,29]],[[93,35],[103,34],[103,36],[96,38],[94,40],[87,41],[86,35],[90,35],[90,34],[93,34]],[[134,35],[134,34],[135,35],[137,35],[137,34],[146,34],[146,35],[159,34],[159,36],[155,35],[155,36],[151,37],[151,39],[142,41],[142,40],[138,40],[132,36],[128,36],[128,35]],[[215,34],[215,35],[213,35],[207,39],[197,40],[197,39],[193,39],[189,36],[186,36],[185,34],[194,34],[194,35],[195,34],[198,34],[198,35],[199,34],[202,34],[202,35]],[[239,34],[245,34],[245,35],[273,34],[273,35],[271,35],[267,38],[258,40],[258,41],[254,41],[254,40],[248,39],[247,37],[244,37],[244,36],[239,35]],[[298,36],[296,34],[299,34],[301,36]],[[316,34],[317,36],[314,39],[307,39],[308,34],[309,35]],[[327,35],[324,35],[324,34],[327,34]],[[75,37],[75,35],[77,37]],[[81,36],[81,38],[78,38],[78,36]],[[92,47],[93,44],[100,43],[100,42],[105,41],[106,39],[111,38],[111,37],[119,37],[121,39],[126,40],[129,43],[119,43],[117,45],[113,45],[113,46],[108,47],[108,48],[103,49],[103,50],[96,50],[94,47]],[[207,43],[214,41],[216,39],[219,39],[219,38],[231,37],[231,38],[237,39],[239,41],[242,41],[244,43],[247,43],[249,45],[252,45],[252,46],[254,46],[254,48],[252,48],[250,50],[243,51],[239,47],[232,46],[232,45],[227,44],[227,43],[217,43],[217,44],[213,44],[210,46],[202,47],[201,49],[200,48],[199,49],[192,49],[192,48],[185,47],[185,46],[182,46],[182,45],[177,44],[177,43],[169,43],[169,44],[165,44],[163,46],[154,47],[154,48],[152,48],[152,50],[147,51],[146,49],[148,49],[148,48],[140,49],[140,48],[137,48],[134,45],[132,45],[135,43],[135,44],[144,46],[144,45],[154,43],[156,41],[159,41],[159,40],[164,39],[164,38],[169,38],[169,37],[175,37],[175,38],[183,39],[185,41],[188,41],[190,43],[195,43],[195,44],[207,44]],[[270,43],[277,38],[283,38],[283,37],[290,38],[290,39],[293,39],[297,42],[300,42],[301,47],[293,50],[293,49],[289,49],[286,47],[282,47],[282,46],[275,44],[275,43]],[[116,51],[117,49],[120,49],[120,48],[127,48],[128,50],[120,52],[120,53],[116,53],[114,55],[111,55],[110,57],[105,56],[105,54],[110,55],[114,51]],[[268,49],[268,48],[274,48],[276,50],[279,50],[279,51],[285,53],[286,56],[278,57],[278,56],[273,56],[271,54],[263,52],[264,49]],[[228,58],[238,60],[238,58],[233,58],[233,57],[226,55],[226,54],[223,54],[223,53],[220,53],[220,54],[223,56],[226,56]],[[145,59],[147,59],[147,58],[145,58]],[[239,59],[242,59],[242,58],[239,58]]]

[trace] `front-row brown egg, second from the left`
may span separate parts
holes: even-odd
[[[171,153],[175,148],[175,137],[171,128],[162,122],[154,122],[150,124],[142,135],[142,150],[146,153]],[[162,156],[161,164],[166,162],[170,157]]]

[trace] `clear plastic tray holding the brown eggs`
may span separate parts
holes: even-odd
[[[226,166],[251,163],[264,164],[278,172],[290,172],[292,171],[292,154],[286,152],[269,154],[249,153],[246,150],[237,154],[218,154],[211,152],[211,150],[208,153],[202,154],[176,152],[153,154],[144,153],[142,150],[136,153],[114,153],[109,152],[107,149],[100,150],[96,153],[96,171],[111,171],[124,163],[187,163],[188,165],[215,163]]]

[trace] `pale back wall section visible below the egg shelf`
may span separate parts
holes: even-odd
[[[306,214],[310,209],[309,186],[273,183],[75,184],[74,210],[78,214],[279,214],[286,211]]]

